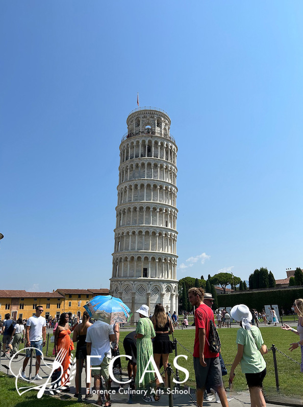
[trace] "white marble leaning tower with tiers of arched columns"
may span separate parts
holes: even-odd
[[[118,203],[110,292],[135,311],[178,312],[176,153],[164,110],[143,107],[127,119],[120,144]]]

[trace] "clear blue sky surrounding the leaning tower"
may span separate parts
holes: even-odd
[[[179,148],[178,278],[303,266],[301,1],[0,8],[1,288],[109,287],[137,92]]]

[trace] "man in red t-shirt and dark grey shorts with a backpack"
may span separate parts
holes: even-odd
[[[203,288],[193,287],[188,290],[189,302],[196,307],[196,335],[193,361],[197,387],[197,404],[199,407],[202,407],[204,390],[212,388],[218,393],[223,407],[228,407],[229,403],[223,387],[219,353],[211,352],[208,342],[210,320],[215,323],[214,313],[208,305],[204,304],[203,298]]]

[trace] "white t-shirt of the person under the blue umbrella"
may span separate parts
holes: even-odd
[[[91,359],[91,365],[102,363],[105,356],[111,357],[111,346],[109,335],[113,335],[113,327],[106,322],[96,321],[87,328],[86,342],[91,343],[91,356],[99,356]]]

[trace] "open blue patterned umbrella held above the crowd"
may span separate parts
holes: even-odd
[[[128,322],[132,316],[130,308],[119,298],[96,296],[84,305],[91,318],[107,324]]]

